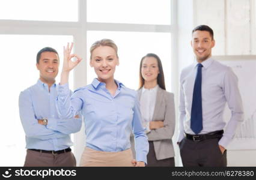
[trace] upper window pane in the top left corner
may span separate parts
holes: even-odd
[[[0,19],[78,21],[78,0],[1,0]]]

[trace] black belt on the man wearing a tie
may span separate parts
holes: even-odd
[[[186,135],[187,139],[193,140],[194,142],[200,142],[200,141],[206,140],[206,139],[220,138],[220,137],[222,137],[223,133],[224,133],[224,130],[213,131],[211,133],[198,134],[198,135],[191,135],[191,134],[185,133],[185,135]]]

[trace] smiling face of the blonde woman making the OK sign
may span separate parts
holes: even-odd
[[[119,65],[117,52],[109,46],[99,46],[93,50],[90,60],[99,80],[114,79],[115,66]]]

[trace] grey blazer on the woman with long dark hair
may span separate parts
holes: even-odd
[[[139,100],[141,98],[141,91],[142,89],[138,90]],[[174,94],[160,87],[157,90],[152,121],[163,121],[164,124],[164,127],[147,133],[148,140],[154,143],[154,152],[156,152],[157,160],[174,157],[172,145],[172,136],[175,128]],[[134,140],[132,142],[132,146],[134,146]]]

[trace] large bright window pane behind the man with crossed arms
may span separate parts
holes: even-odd
[[[0,71],[0,126],[1,153],[0,166],[23,166],[25,161],[25,133],[19,117],[20,91],[34,85],[39,77],[35,66],[37,52],[49,46],[56,49],[61,59],[63,46],[73,41],[67,35],[0,35],[2,68]],[[73,87],[73,73],[70,74],[70,87]],[[56,82],[59,82],[60,72]],[[11,158],[10,158],[11,157]]]

